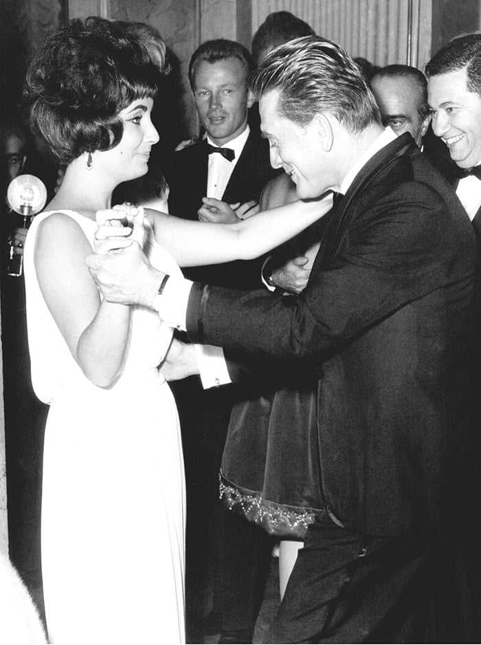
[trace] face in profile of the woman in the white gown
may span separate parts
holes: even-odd
[[[115,148],[100,153],[109,173],[118,175],[118,183],[145,175],[150,149],[159,135],[150,120],[152,98],[137,98],[120,112],[124,124],[122,139]]]

